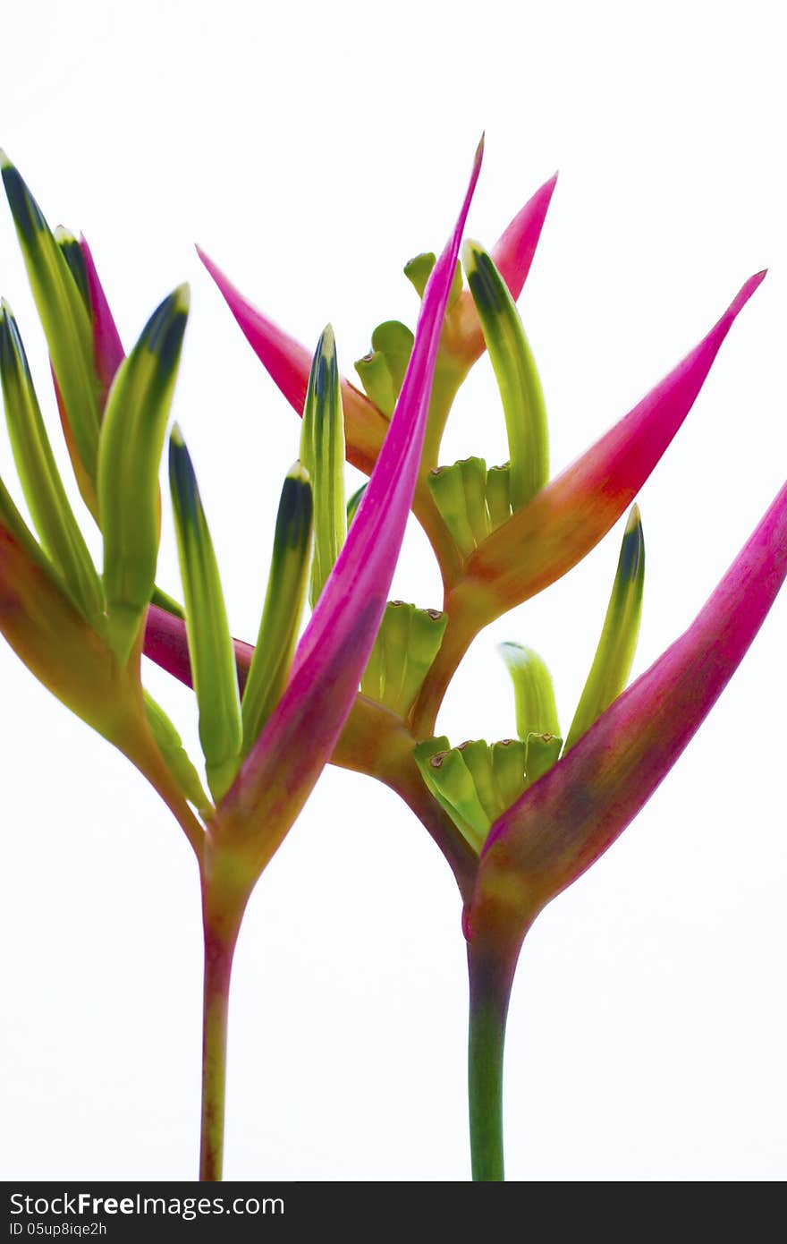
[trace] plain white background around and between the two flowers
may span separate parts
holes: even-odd
[[[770,265],[639,498],[635,672],[691,621],[787,474],[780,16],[773,2],[696,0],[7,6],[0,142],[50,223],[85,231],[127,347],[191,281],[175,413],[236,634],[256,634],[298,423],[191,244],[310,346],[329,318],[352,373],[377,322],[414,321],[400,267],[443,245],[482,129],[470,236],[491,245],[561,169],[520,304],[555,469]],[[53,417],[5,209],[0,292]],[[19,495],[5,440],[0,453]],[[505,457],[486,361],[445,443],[446,460],[469,453]],[[571,720],[620,534],[479,638],[439,723],[455,743],[512,733],[504,638],[541,651]],[[169,534],[159,581],[179,593]],[[439,605],[415,529],[394,595]],[[787,1169],[786,622],[782,597],[675,771],[527,939],[506,1060],[511,1179]],[[189,694],[155,673],[150,685],[194,740]],[[193,1178],[191,852],[124,758],[5,646],[0,688],[0,1173]],[[241,934],[229,1179],[467,1177],[459,917],[412,814],[373,781],[326,770]]]

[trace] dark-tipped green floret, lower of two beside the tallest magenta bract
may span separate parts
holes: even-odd
[[[308,474],[296,463],[281,490],[260,633],[241,700],[244,755],[252,748],[287,683],[306,603],[312,518]]]

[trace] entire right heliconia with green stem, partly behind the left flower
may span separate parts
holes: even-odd
[[[466,243],[435,364],[413,510],[444,586],[441,611],[392,602],[333,761],[387,782],[421,819],[464,899],[470,970],[470,1117],[474,1176],[502,1178],[505,1018],[525,934],[538,912],[623,831],[700,725],[741,661],[787,571],[782,491],[689,628],[624,690],[639,626],[644,541],[637,508],[593,668],[563,743],[540,658],[509,646],[518,740],[451,748],[434,736],[445,690],[479,631],[569,571],[632,505],[686,418],[765,274],[752,276],[694,350],[576,463],[550,478],[543,394],[515,306],[555,188],[547,182],[491,253]],[[274,381],[303,413],[308,355],[201,255]],[[434,256],[405,272],[421,292]],[[383,443],[412,333],[387,322],[342,379],[347,458],[364,471]],[[486,348],[501,394],[510,460],[440,465],[453,398]],[[152,608],[145,651],[184,680],[183,627]],[[250,649],[236,642],[239,668]]]

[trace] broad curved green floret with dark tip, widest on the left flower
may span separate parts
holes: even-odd
[[[158,473],[189,309],[182,285],[153,312],[109,389],[98,510],[109,636],[126,657],[143,624],[159,545]]]

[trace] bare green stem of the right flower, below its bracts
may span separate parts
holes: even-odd
[[[470,1033],[467,1096],[472,1178],[500,1182],[502,1146],[502,1055],[512,969],[487,948],[467,945],[470,977]]]

